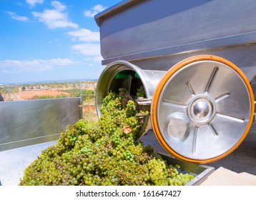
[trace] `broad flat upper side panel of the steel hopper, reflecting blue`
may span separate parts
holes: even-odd
[[[96,16],[104,64],[256,41],[253,0],[122,3]]]

